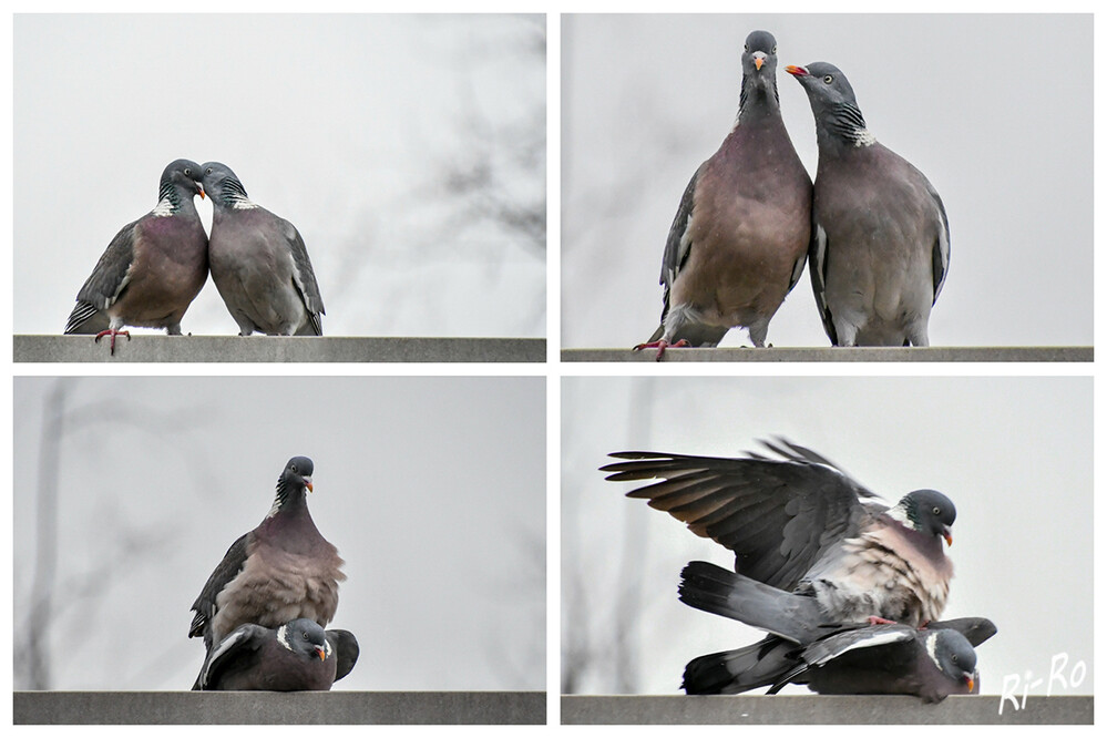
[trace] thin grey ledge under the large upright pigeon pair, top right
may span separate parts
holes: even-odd
[[[657,351],[563,349],[562,361],[654,361]],[[1093,361],[1090,346],[668,349],[663,361]]]

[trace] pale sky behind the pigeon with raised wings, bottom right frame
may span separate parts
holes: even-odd
[[[920,488],[954,501],[945,616],[998,627],[977,652],[983,694],[998,695],[1008,674],[1048,676],[1063,653],[1087,676],[1054,694],[1091,694],[1090,378],[572,377],[561,422],[563,665],[570,640],[598,647],[625,628],[634,690],[674,694],[695,656],[761,637],[677,599],[686,563],[729,568],[734,554],[625,498],[636,485],[604,481],[597,468],[614,451],[735,457],[779,434],[889,503]],[[635,604],[629,622],[613,612],[621,597]],[[617,691],[613,669],[593,658],[580,691]]]

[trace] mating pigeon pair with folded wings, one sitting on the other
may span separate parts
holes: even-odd
[[[338,550],[307,509],[315,465],[295,457],[265,520],[238,537],[192,609],[207,656],[193,689],[326,690],[358,659],[348,631],[324,631],[346,578]]]

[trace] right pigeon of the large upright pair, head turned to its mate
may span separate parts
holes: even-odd
[[[827,336],[834,346],[929,346],[930,310],[950,268],[942,198],[869,132],[837,66],[785,69],[814,113],[811,285]]]

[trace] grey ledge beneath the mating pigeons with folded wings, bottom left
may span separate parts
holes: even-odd
[[[17,691],[16,725],[544,725],[544,691]]]

